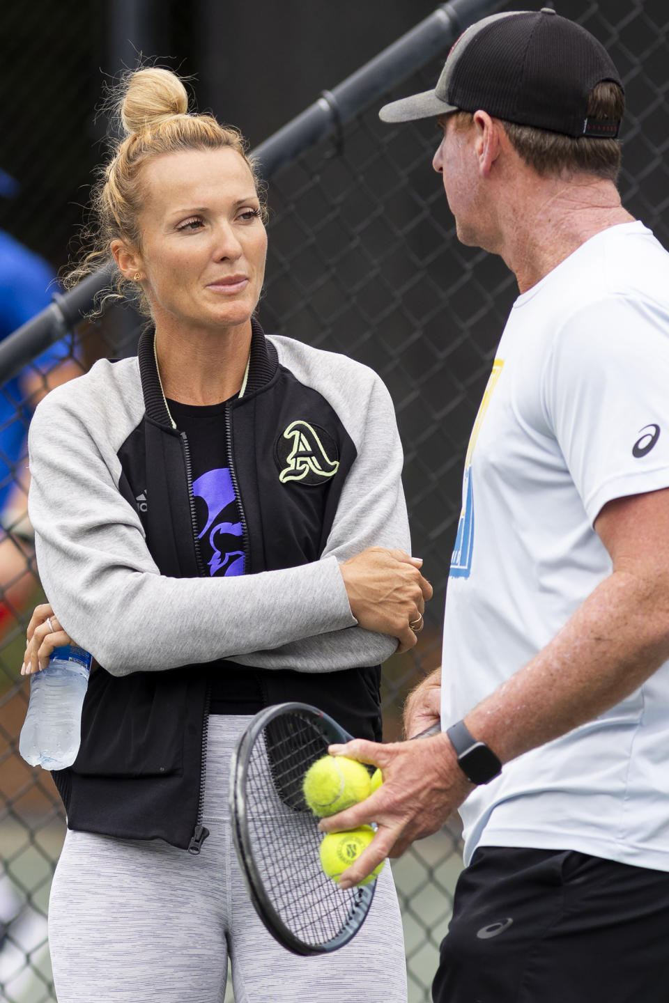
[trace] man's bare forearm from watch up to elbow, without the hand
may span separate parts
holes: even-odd
[[[668,658],[669,586],[614,572],[464,720],[508,762],[613,707]]]

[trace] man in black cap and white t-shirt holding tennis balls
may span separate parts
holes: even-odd
[[[349,887],[460,808],[438,1003],[669,995],[669,255],[622,208],[612,60],[551,10],[484,18],[432,91],[462,243],[520,296],[471,433],[439,672],[416,742],[324,829],[376,821]],[[440,704],[440,706],[439,706]]]

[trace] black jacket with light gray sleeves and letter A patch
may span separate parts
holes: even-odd
[[[63,628],[104,666],[77,760],[54,773],[71,828],[199,849],[213,667],[255,671],[267,704],[313,703],[380,738],[379,663],[396,642],[357,626],[338,566],[369,546],[409,548],[388,392],[365,366],[254,322],[226,422],[247,573],[210,578],[152,332],[136,358],[97,362],[35,412],[40,578]]]

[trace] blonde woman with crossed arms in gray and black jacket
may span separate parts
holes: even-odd
[[[400,1001],[389,869],[330,956],[280,948],[234,859],[228,764],[249,715],[313,703],[380,737],[379,663],[431,590],[409,557],[402,453],[369,369],[255,318],[267,237],[240,134],[189,113],[168,70],[129,74],[98,184],[97,243],[149,317],[137,357],[49,394],[30,518],[50,607],[23,672],[94,656],[81,747],[54,773],[68,831],[49,940],[60,1003]]]

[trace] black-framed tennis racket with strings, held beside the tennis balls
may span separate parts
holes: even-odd
[[[351,737],[316,707],[281,703],[256,714],[233,756],[230,809],[240,868],[258,916],[294,954],[343,947],[374,898],[375,881],[344,890],[323,873],[323,833],[302,792],[311,764],[328,745]]]

